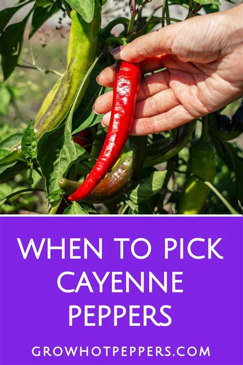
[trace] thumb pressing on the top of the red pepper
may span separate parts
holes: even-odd
[[[180,29],[180,24],[172,24],[157,31],[141,35],[126,46],[113,49],[111,54],[116,60],[141,62],[148,57],[162,53],[172,53],[172,44]]]

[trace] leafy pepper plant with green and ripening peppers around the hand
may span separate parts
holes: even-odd
[[[105,141],[102,116],[92,106],[98,95],[110,90],[96,82],[99,72],[115,62],[110,50],[182,21],[170,16],[174,5],[187,9],[186,18],[220,11],[219,0],[164,0],[157,7],[151,0],[130,0],[119,2],[125,16],[117,17],[109,0],[107,4],[104,0],[19,0],[0,12],[0,213],[241,213],[243,159],[239,143],[232,142],[242,133],[240,101],[203,121],[130,137],[95,189],[82,201],[68,200],[93,168]],[[20,9],[23,19],[12,23]],[[40,66],[29,46],[58,11],[62,14],[58,31],[63,20],[70,27],[64,72]],[[31,109],[32,98],[28,95],[26,100],[17,87],[19,70],[26,85],[29,70],[52,84],[34,119],[27,115],[25,123],[17,123],[19,106],[29,103]],[[14,112],[9,112],[13,107]],[[6,128],[11,122],[17,128]]]

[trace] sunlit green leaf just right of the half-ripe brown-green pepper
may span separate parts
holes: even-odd
[[[161,190],[167,170],[154,171],[148,179],[143,179],[129,195],[130,200],[138,204],[150,199]]]

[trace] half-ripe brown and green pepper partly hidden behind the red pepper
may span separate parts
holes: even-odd
[[[130,136],[111,172],[84,199],[88,203],[105,203],[117,198],[130,188],[140,175],[146,156],[147,137]],[[65,193],[72,194],[80,182],[60,179],[59,186]]]

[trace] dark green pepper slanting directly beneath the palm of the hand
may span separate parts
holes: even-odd
[[[168,161],[183,149],[189,142],[195,129],[196,121],[183,124],[176,128],[175,136],[163,138],[151,143],[147,148],[145,167]]]

